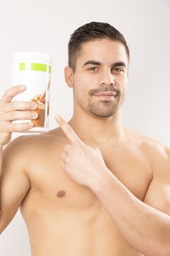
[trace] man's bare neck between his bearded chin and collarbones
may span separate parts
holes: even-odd
[[[111,140],[123,140],[124,129],[121,124],[120,110],[114,116],[101,118],[88,113],[77,113],[69,121],[69,125],[81,140],[94,143],[109,143]]]

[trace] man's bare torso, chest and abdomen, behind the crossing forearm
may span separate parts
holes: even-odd
[[[59,166],[68,143],[57,132],[29,138],[26,171],[31,189],[20,209],[32,256],[142,256],[128,245],[96,195]],[[152,181],[152,167],[142,140],[87,144],[101,150],[109,170],[143,201]]]

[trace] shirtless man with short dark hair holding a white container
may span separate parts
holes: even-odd
[[[11,102],[22,86],[1,98],[0,231],[20,207],[32,256],[170,255],[170,150],[121,124],[128,61],[119,31],[88,23],[69,41],[68,124],[9,143],[36,107]]]

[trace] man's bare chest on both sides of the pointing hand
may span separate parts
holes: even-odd
[[[26,202],[41,203],[42,207],[53,210],[69,208],[78,211],[98,207],[100,203],[96,195],[88,187],[77,184],[61,169],[61,151],[49,157],[39,156],[34,165],[30,164],[31,191]],[[113,175],[136,197],[144,200],[152,179],[147,157],[134,147],[101,148],[101,153]]]

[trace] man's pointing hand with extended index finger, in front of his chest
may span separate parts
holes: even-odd
[[[61,154],[61,168],[78,184],[92,188],[108,171],[98,148],[87,146],[61,116],[55,116],[70,144]]]

